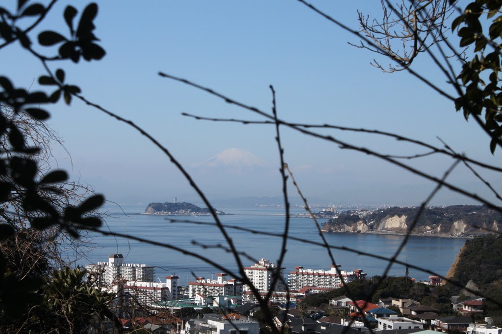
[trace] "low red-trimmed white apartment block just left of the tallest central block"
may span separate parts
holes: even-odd
[[[190,298],[197,293],[204,296],[242,295],[243,284],[235,279],[225,280],[226,273],[216,274],[217,280],[196,277],[195,282],[188,282]]]

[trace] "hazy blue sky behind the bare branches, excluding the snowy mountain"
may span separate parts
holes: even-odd
[[[368,3],[314,2],[353,28],[357,28],[357,9],[380,17],[378,2]],[[65,4],[54,7],[42,30],[64,29]],[[89,100],[145,128],[187,166],[216,202],[281,194],[274,128],[183,117],[181,112],[260,119],[207,93],[161,78],[159,71],[266,111],[272,100],[268,87],[273,84],[279,117],[285,120],[380,129],[438,145],[436,136],[440,136],[459,152],[500,165],[500,154],[491,156],[486,137],[473,122],[465,122],[451,102],[407,73],[385,74],[371,67],[369,62],[376,55],[349,46],[347,42],[358,40],[296,1],[102,2],[95,24],[105,58],[77,66],[53,64],[53,69],[65,69],[67,81],[80,86]],[[0,57],[3,64],[12,64],[4,66],[4,74],[18,86],[29,87],[43,74],[41,65],[18,46],[2,50]],[[446,87],[445,78],[426,56],[415,69]],[[40,87],[35,83],[33,89]],[[73,162],[55,147],[57,164],[70,169],[73,178],[92,184],[119,203],[163,202],[175,196],[196,202],[169,159],[131,127],[78,101],[70,107],[58,104],[51,111],[49,123],[65,140]],[[424,152],[374,136],[331,134],[386,153]],[[282,129],[282,140],[286,161],[314,202],[417,205],[433,189],[430,182],[384,161],[292,130]],[[268,167],[240,174],[202,173],[196,168],[232,147],[252,152]],[[441,176],[451,162],[432,157],[412,163]],[[500,184],[500,177],[481,172],[495,186]],[[491,199],[463,167],[450,181]],[[471,202],[448,191],[434,201]]]

